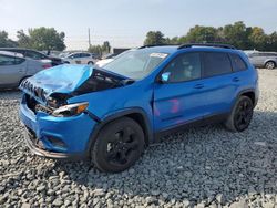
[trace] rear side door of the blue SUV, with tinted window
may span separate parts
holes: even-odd
[[[224,115],[230,111],[240,77],[233,73],[228,53],[205,52],[203,54],[203,82],[205,117]]]

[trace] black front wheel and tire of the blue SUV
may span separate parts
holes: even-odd
[[[91,147],[91,160],[101,171],[119,173],[134,165],[143,150],[142,127],[134,119],[122,117],[100,131]]]

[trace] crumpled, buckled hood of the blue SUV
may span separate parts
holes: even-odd
[[[63,64],[43,70],[23,81],[20,90],[47,104],[50,97],[66,100],[89,92],[120,86],[126,77],[89,65]],[[61,96],[62,95],[62,96]]]

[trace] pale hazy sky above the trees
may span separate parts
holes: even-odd
[[[235,21],[277,31],[277,0],[0,0],[0,30],[53,27],[65,32],[68,49],[88,49],[110,41],[112,46],[138,46],[150,30],[166,37],[191,27],[219,27]]]

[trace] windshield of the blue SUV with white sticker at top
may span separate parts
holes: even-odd
[[[129,51],[104,69],[133,80],[141,80],[148,75],[165,58],[166,53],[153,53],[146,50]]]

